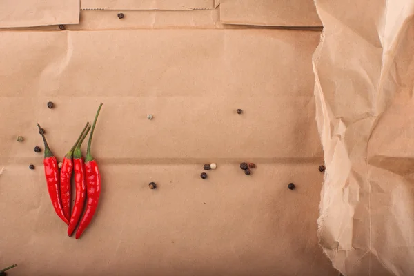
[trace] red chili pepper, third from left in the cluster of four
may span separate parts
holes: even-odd
[[[75,230],[79,218],[82,215],[83,211],[83,204],[85,204],[85,197],[86,197],[86,184],[85,184],[85,165],[83,164],[82,152],[81,152],[81,145],[83,140],[85,139],[86,135],[90,130],[90,126],[88,129],[83,133],[81,140],[77,144],[75,148],[75,152],[73,152],[73,164],[75,165],[75,188],[76,188],[76,196],[75,196],[75,204],[72,210],[72,216],[70,217],[70,222],[68,226],[68,236],[70,237]]]

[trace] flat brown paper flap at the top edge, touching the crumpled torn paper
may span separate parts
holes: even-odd
[[[222,23],[258,26],[322,26],[313,0],[221,0]]]

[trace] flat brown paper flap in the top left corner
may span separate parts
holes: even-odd
[[[79,23],[79,0],[0,1],[0,28]]]

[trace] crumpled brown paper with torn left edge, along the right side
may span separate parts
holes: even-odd
[[[320,244],[344,275],[413,275],[414,4],[316,5]]]

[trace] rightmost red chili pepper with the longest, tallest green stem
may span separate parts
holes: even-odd
[[[92,135],[95,130],[95,125],[97,124],[97,119],[99,116],[99,111],[101,111],[102,103],[99,105],[97,114],[95,115],[95,120],[92,124],[92,130],[90,130],[89,141],[88,141],[88,150],[86,151],[85,159],[85,171],[86,171],[86,193],[88,195],[88,201],[86,203],[86,211],[83,214],[81,223],[76,232],[75,238],[79,239],[83,231],[88,227],[90,221],[92,221],[93,215],[97,210],[99,195],[101,195],[101,174],[99,173],[97,161],[93,159],[90,154],[90,144],[92,144]]]

